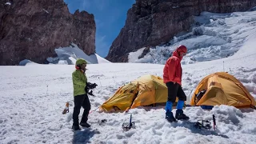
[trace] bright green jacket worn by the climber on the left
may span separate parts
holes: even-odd
[[[74,96],[86,94],[86,74],[83,74],[81,70],[74,70],[72,73]]]

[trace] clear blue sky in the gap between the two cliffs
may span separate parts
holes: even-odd
[[[127,10],[135,0],[64,0],[70,13],[86,10],[96,22],[96,53],[105,58],[110,46],[125,25]]]

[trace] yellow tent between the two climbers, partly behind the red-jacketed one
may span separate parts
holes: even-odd
[[[128,110],[137,106],[166,103],[166,101],[166,84],[162,78],[148,74],[120,87],[111,98],[102,104],[100,110],[108,112]]]

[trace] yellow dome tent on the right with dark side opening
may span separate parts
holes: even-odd
[[[199,96],[199,92],[205,93]],[[228,105],[238,108],[256,105],[254,97],[238,79],[225,72],[210,74],[199,82],[190,99],[191,106]]]

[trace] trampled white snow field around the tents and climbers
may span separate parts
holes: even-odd
[[[234,14],[255,17],[254,12]],[[215,29],[221,30],[218,33],[223,32],[218,26],[213,27]],[[234,75],[256,98],[256,35],[248,34],[244,37],[238,52],[228,58],[182,66],[182,87],[188,101],[198,82],[206,75],[218,71],[228,71]],[[203,55],[201,57],[205,58]],[[0,66],[0,143],[256,143],[256,110],[239,110],[233,106],[214,106],[213,110],[187,107],[184,112],[190,121],[174,123],[166,121],[164,106],[138,107],[130,110],[136,128],[123,131],[122,123],[129,122],[130,114],[99,113],[97,108],[119,86],[135,78],[144,74],[162,77],[163,65],[104,63],[90,64],[87,68],[88,82],[98,84],[94,90],[95,96],[90,96],[91,110],[95,111],[89,114],[91,128],[73,133],[71,74],[74,66],[39,65],[33,62],[26,66]],[[70,113],[63,115],[66,102],[70,103]],[[175,114],[175,109],[173,112]],[[194,128],[193,124],[198,119],[212,122],[212,114],[216,116],[217,130]],[[79,118],[81,116],[82,110]],[[98,120],[102,119],[107,122],[98,124]]]

